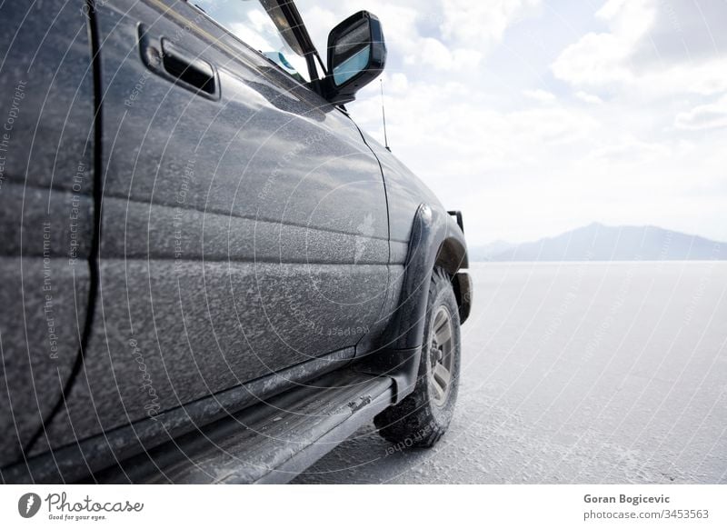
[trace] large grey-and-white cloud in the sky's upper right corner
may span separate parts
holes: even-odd
[[[712,5],[711,12],[722,10],[725,20],[727,4],[707,4]],[[679,5],[678,13],[672,5]],[[709,46],[704,35],[711,31],[699,6],[687,9],[683,3],[668,1],[609,0],[596,17],[609,31],[590,32],[567,46],[553,62],[556,78],[578,87],[618,87],[653,96],[713,95],[727,90],[727,57],[720,53],[721,47],[727,53],[727,37],[712,37],[711,50],[705,49]],[[723,30],[715,33],[723,34]],[[674,53],[674,43],[684,53]],[[689,43],[696,46],[693,56]]]

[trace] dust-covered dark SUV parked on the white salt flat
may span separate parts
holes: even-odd
[[[470,311],[462,215],[344,105],[284,0],[0,5],[0,475],[284,482],[373,419],[430,446]]]

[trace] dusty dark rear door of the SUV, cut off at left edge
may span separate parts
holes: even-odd
[[[95,145],[84,8],[0,3],[0,466],[61,404],[85,330]]]

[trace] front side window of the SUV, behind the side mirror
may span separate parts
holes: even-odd
[[[273,61],[296,80],[311,80],[304,51],[285,16],[269,0],[191,0],[191,5]]]

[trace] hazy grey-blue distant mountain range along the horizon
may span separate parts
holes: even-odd
[[[583,226],[533,243],[495,241],[470,248],[471,261],[727,260],[727,243],[656,226]]]

